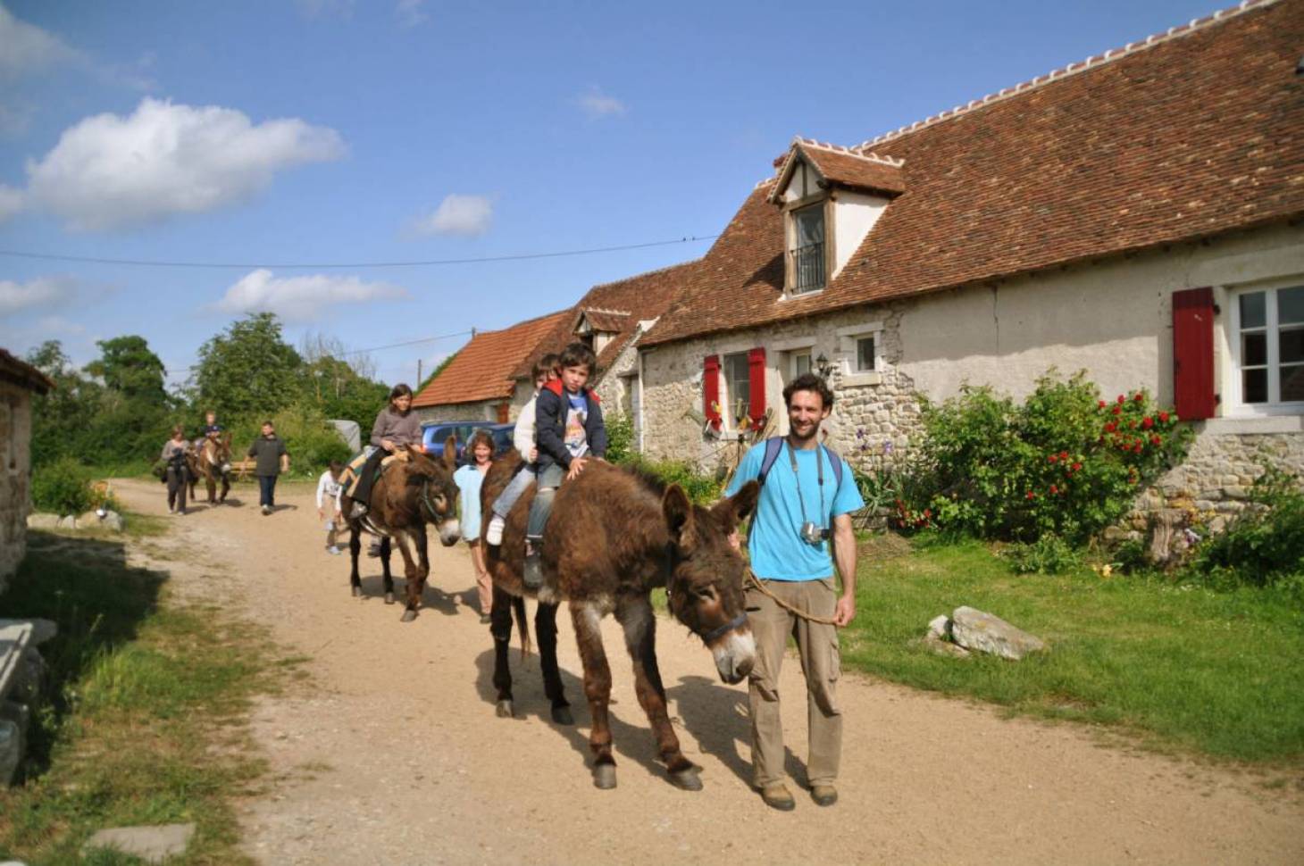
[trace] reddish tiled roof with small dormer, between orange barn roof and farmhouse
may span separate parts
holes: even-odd
[[[515,378],[528,377],[535,361],[546,352],[559,352],[567,343],[574,342],[575,326],[579,325],[582,313],[587,313],[591,321],[597,316],[602,325],[613,326],[599,329],[615,334],[597,356],[599,372],[605,370],[621,353],[621,350],[629,344],[640,321],[662,316],[681,296],[683,288],[692,282],[691,275],[700,261],[672,265],[592,287],[575,305],[570,316],[546,339],[540,342],[536,351],[516,365],[512,376]],[[614,316],[617,312],[625,314]],[[610,318],[604,318],[604,314]],[[597,327],[596,323],[595,327]]]

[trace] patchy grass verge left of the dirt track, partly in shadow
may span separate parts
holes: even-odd
[[[26,780],[0,790],[0,859],[81,862],[96,829],[194,822],[175,862],[248,862],[232,801],[263,769],[244,721],[275,683],[265,635],[173,600],[166,573],[128,566],[121,541],[29,543],[0,608],[60,631],[42,647],[52,702],[34,719]]]

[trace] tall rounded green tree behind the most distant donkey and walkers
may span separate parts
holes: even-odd
[[[200,347],[196,391],[203,408],[232,417],[270,416],[301,393],[303,359],[273,313],[250,313]]]

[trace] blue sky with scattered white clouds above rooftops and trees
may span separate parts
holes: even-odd
[[[1230,5],[1230,4],[1227,4]],[[497,329],[709,241],[794,134],[854,145],[1217,0],[0,0],[0,346],[141,334],[184,380],[244,312],[353,350]],[[416,378],[464,336],[372,353]]]

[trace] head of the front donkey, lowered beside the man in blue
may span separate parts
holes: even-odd
[[[670,612],[707,644],[725,682],[738,682],[756,663],[756,642],[743,609],[747,563],[730,537],[756,507],[759,493],[760,485],[748,481],[711,509],[689,502],[678,484],[661,497],[670,531]]]

